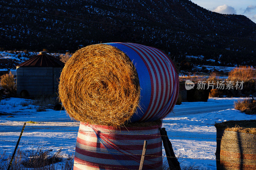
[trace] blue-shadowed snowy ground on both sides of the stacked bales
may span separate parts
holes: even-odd
[[[163,120],[173,150],[181,166],[215,170],[216,129],[214,122],[228,120],[251,120],[255,115],[246,115],[233,107],[242,98],[211,98],[208,102],[183,102]],[[64,158],[74,155],[79,123],[70,120],[65,111],[48,109],[36,112],[36,106],[22,106],[31,100],[11,98],[0,104],[0,154],[11,155],[24,122],[27,123],[20,140],[20,150],[62,149]],[[7,142],[9,141],[9,142]],[[163,156],[165,156],[163,147]],[[166,157],[164,157],[164,161]]]

